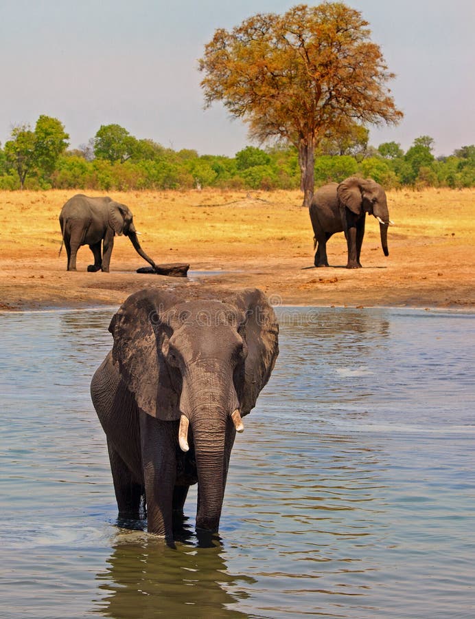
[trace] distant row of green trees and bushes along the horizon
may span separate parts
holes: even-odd
[[[367,131],[354,140],[325,140],[315,159],[315,183],[361,174],[386,189],[475,186],[475,146],[452,155],[432,155],[434,140],[416,138],[404,153],[399,144],[367,145]],[[69,135],[56,118],[40,116],[34,130],[15,127],[0,147],[0,189],[298,189],[300,169],[293,146],[246,146],[234,157],[174,151],[138,140],[117,124],[103,125],[95,138],[67,150]]]

